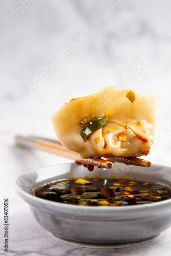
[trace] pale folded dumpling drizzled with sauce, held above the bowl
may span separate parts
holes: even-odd
[[[51,116],[59,141],[82,158],[147,155],[155,134],[156,95],[133,91],[135,100],[131,102],[126,97],[130,90],[105,87],[65,103]],[[79,121],[90,114],[105,116],[107,123],[84,142]]]

